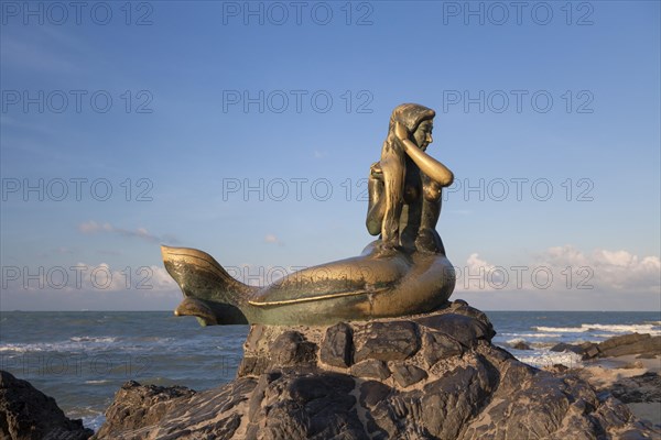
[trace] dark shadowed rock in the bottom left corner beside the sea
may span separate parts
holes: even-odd
[[[53,397],[0,371],[0,439],[83,440],[94,432],[67,418]]]

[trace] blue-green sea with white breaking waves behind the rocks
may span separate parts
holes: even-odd
[[[488,311],[494,342],[533,366],[582,365],[560,343],[632,332],[661,334],[660,311]],[[202,391],[231,381],[248,326],[201,327],[172,311],[0,312],[0,370],[55,398],[94,430],[128,381]],[[524,342],[532,350],[513,350]]]

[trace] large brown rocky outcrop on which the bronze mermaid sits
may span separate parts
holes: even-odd
[[[464,301],[427,316],[333,327],[254,324],[234,382],[199,393],[128,384],[96,437],[518,440],[654,433],[626,405],[575,376],[517,361],[490,343],[494,334],[487,317]]]

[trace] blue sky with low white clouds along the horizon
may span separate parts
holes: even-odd
[[[661,310],[659,2],[295,4],[1,3],[0,309],[172,309],[160,243],[251,283],[356,255],[419,102],[454,298]]]

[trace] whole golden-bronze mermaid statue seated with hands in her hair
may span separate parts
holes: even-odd
[[[203,326],[321,326],[426,314],[447,305],[455,273],[436,232],[453,174],[426,154],[435,112],[415,103],[390,117],[381,158],[370,167],[367,229],[380,235],[359,256],[294,272],[266,287],[231,277],[209,254],[162,246],[184,300],[177,316]]]

